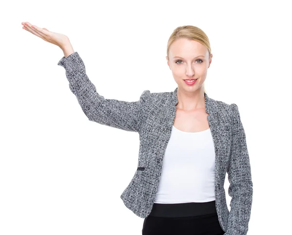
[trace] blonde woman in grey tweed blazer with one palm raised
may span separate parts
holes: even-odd
[[[245,132],[237,105],[204,90],[213,55],[201,29],[178,27],[168,40],[167,65],[178,84],[173,92],[145,90],[139,101],[126,102],[96,92],[67,36],[23,25],[63,50],[58,65],[90,121],[139,133],[138,167],[121,199],[145,218],[143,235],[247,234],[253,183]]]

